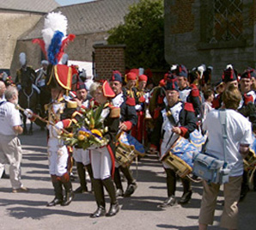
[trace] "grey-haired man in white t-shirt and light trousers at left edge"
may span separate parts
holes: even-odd
[[[9,179],[13,192],[27,192],[21,183],[21,142],[17,137],[23,132],[20,112],[15,108],[18,103],[18,91],[9,86],[5,91],[6,101],[0,105],[0,178],[3,164],[9,164]]]

